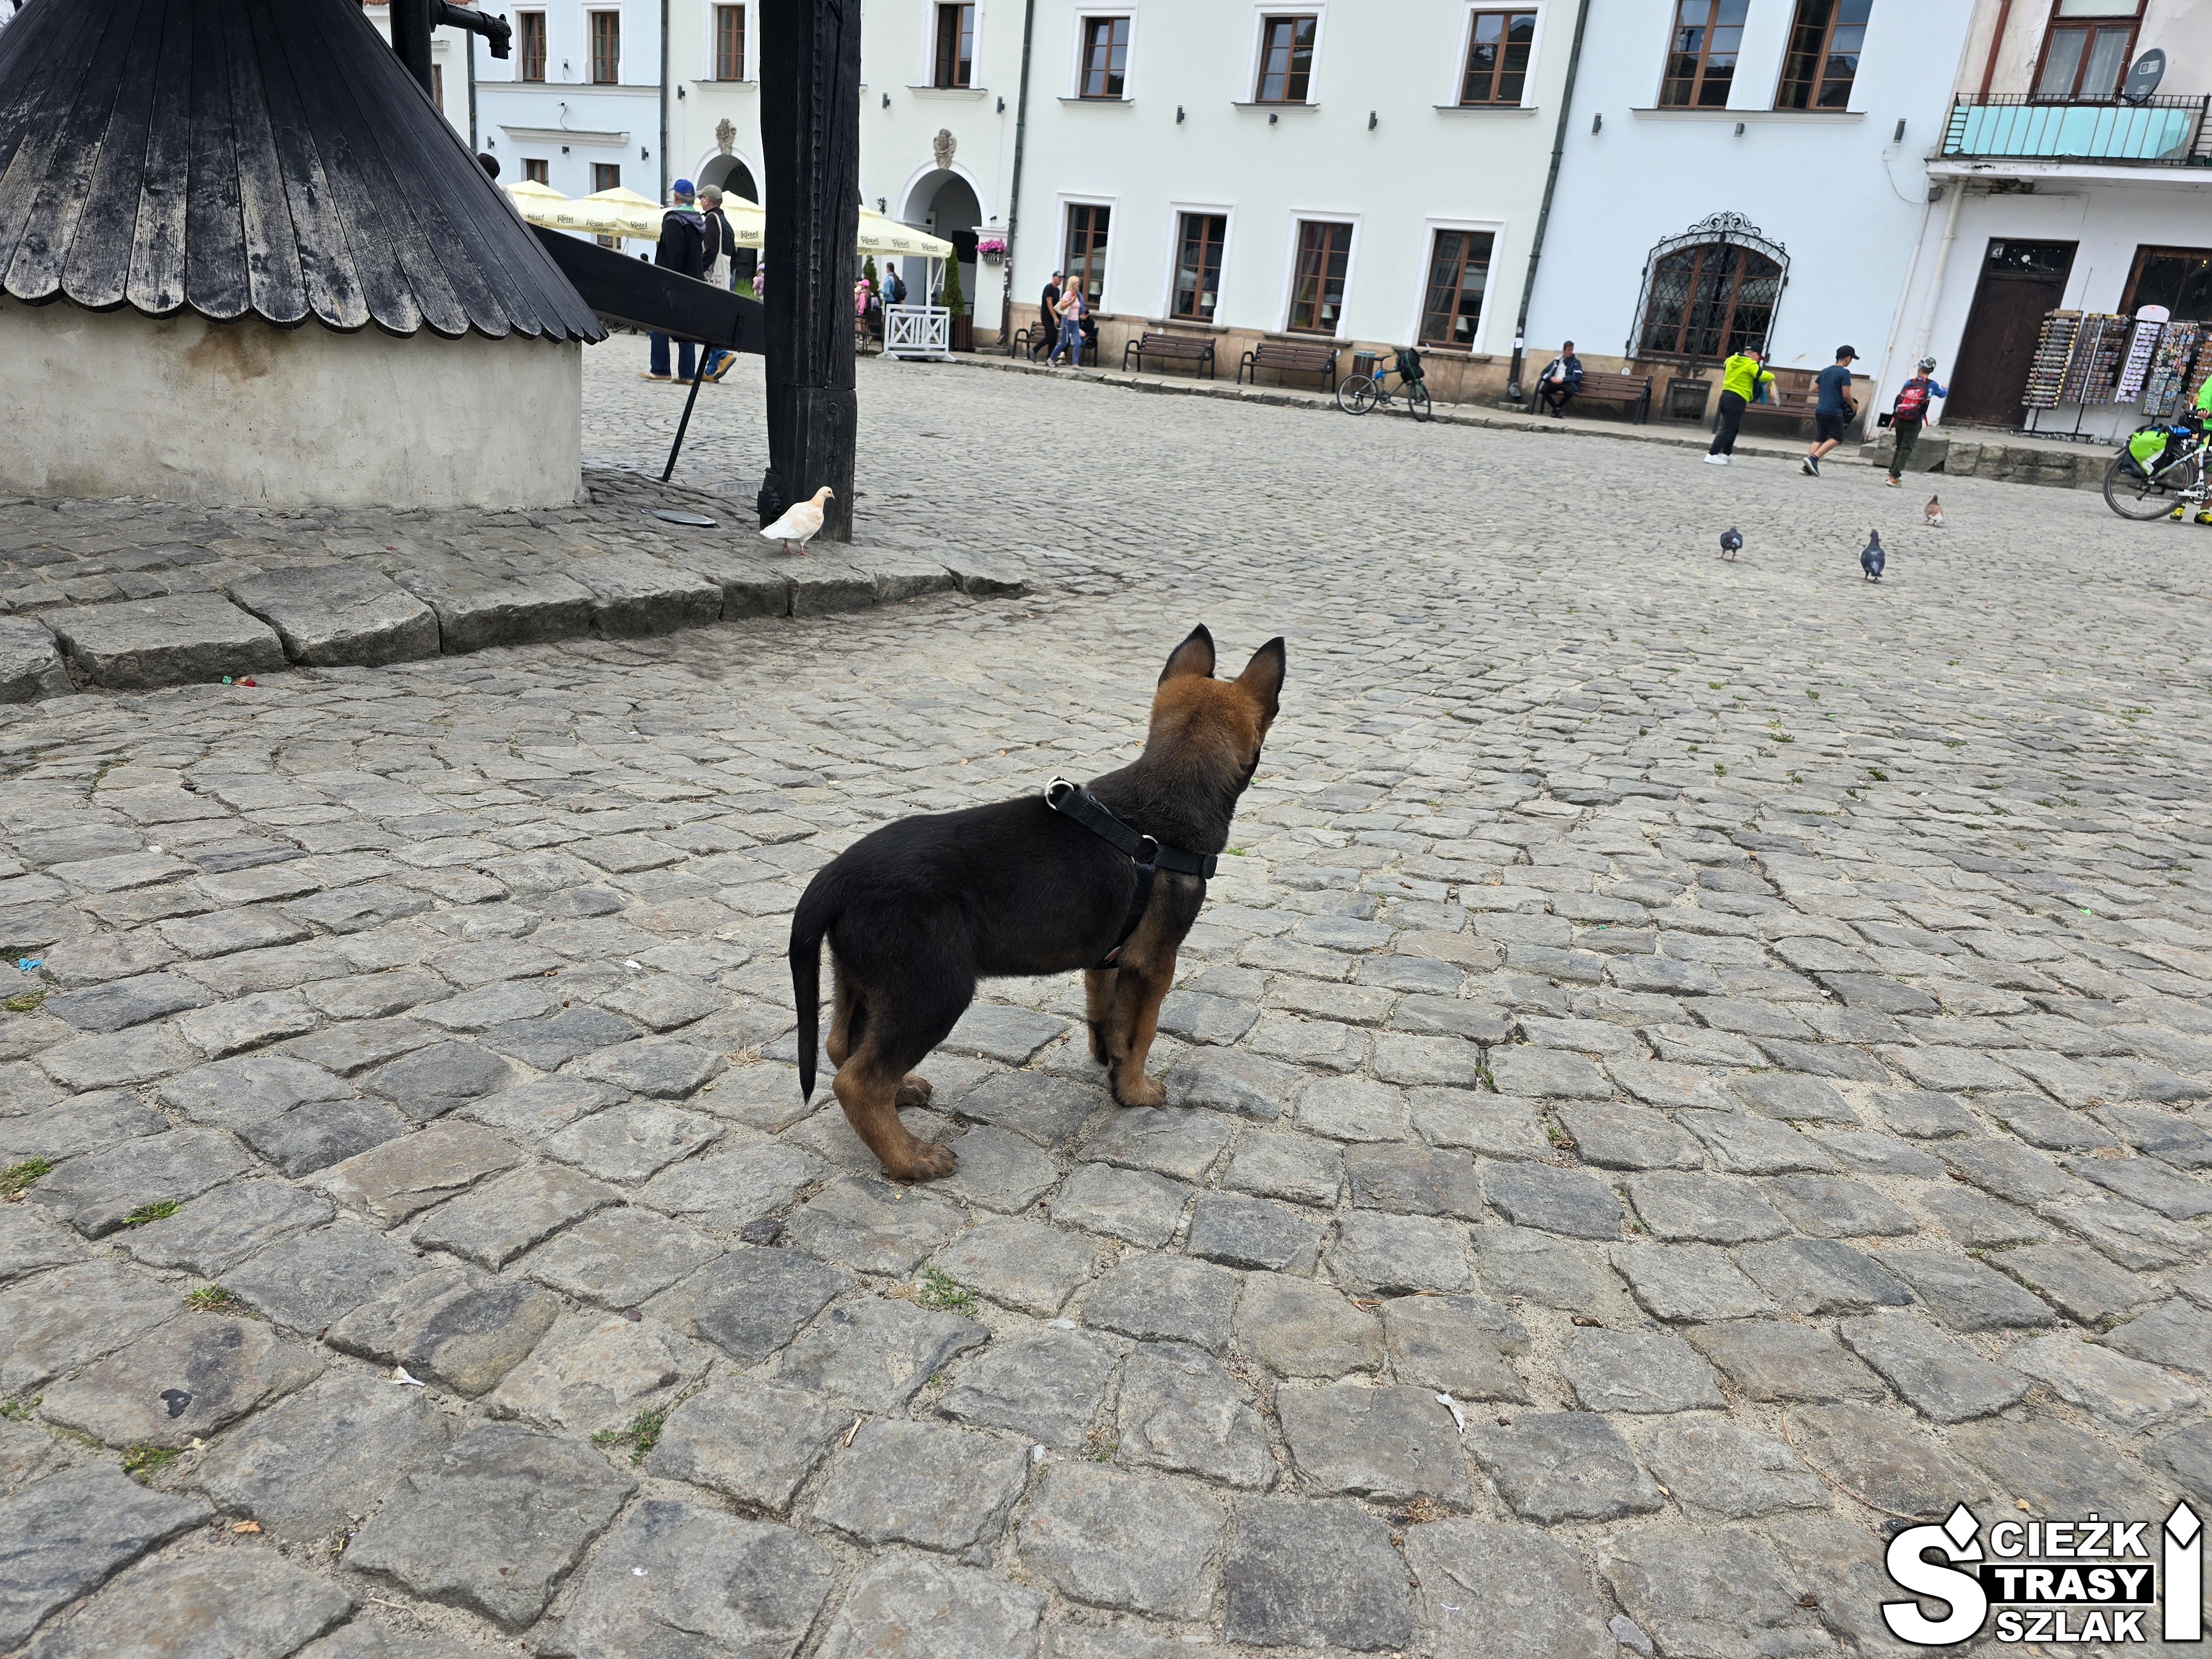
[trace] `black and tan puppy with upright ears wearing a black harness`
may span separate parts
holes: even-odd
[[[1194,628],[1159,675],[1144,754],[1095,779],[1091,794],[1164,847],[1221,852],[1281,692],[1281,639],[1261,646],[1237,679],[1214,679],[1214,637]],[[953,1155],[909,1135],[898,1108],[929,1099],[914,1066],[967,1011],[975,980],[1086,969],[1091,1057],[1106,1066],[1121,1106],[1157,1106],[1166,1091],[1144,1075],[1144,1060],[1206,883],[1161,867],[1121,940],[1137,891],[1135,858],[1048,807],[1042,790],[863,836],[816,872],[792,914],[799,1086],[814,1097],[827,938],[836,962],[823,1044],[836,1066],[832,1086],[894,1177],[953,1170]],[[1115,964],[1099,967],[1117,942]]]

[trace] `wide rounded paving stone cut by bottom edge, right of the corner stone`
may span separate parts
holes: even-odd
[[[42,1637],[38,1659],[148,1652],[146,1610],[159,1608],[161,1648],[226,1659],[288,1659],[356,1606],[352,1590],[274,1551],[221,1551],[144,1562],[69,1624]]]

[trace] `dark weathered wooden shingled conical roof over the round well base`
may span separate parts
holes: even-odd
[[[29,0],[0,29],[0,292],[606,338],[356,0]]]

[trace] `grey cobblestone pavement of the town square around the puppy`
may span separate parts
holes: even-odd
[[[2212,542],[863,398],[863,526],[1033,595],[7,710],[0,1650],[1887,1652],[1898,1517],[2212,1502]],[[1168,1108],[998,982],[885,1186],[796,894],[1126,759],[1192,622],[1290,684]]]

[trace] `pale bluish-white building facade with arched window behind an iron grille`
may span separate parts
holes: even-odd
[[[1593,0],[1528,352],[1573,338],[1686,420],[1750,341],[1785,385],[1840,345],[1871,378],[1969,18],[1964,0]]]

